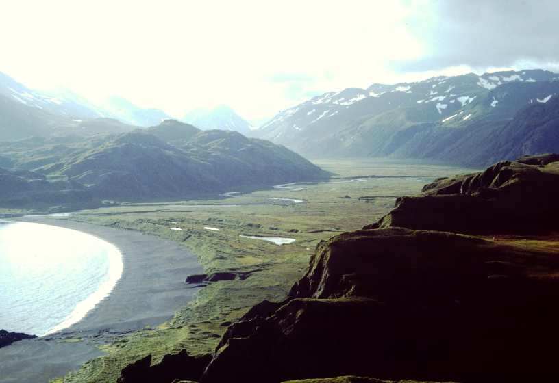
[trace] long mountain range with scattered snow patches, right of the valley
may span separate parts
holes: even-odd
[[[514,134],[517,124],[527,133],[527,120],[536,124],[541,113],[553,111],[541,105],[554,105],[558,79],[553,72],[523,70],[347,88],[282,111],[252,134],[306,157],[421,158],[488,166],[501,158],[559,151],[554,137],[536,143],[541,134],[530,139]],[[504,136],[514,142],[504,143]]]

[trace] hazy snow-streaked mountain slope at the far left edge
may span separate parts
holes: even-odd
[[[65,94],[48,94],[38,90],[31,90],[25,85],[18,83],[12,77],[0,72],[0,94],[16,100],[23,105],[49,111],[54,114],[69,116],[73,118],[100,118],[105,117],[103,111],[92,107],[92,104],[84,98],[74,94],[69,98],[69,92]],[[81,101],[76,101],[81,100]]]

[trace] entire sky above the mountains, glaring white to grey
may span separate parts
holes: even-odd
[[[1,1],[0,72],[175,118],[253,124],[312,96],[435,75],[559,72],[559,1]]]

